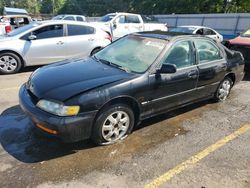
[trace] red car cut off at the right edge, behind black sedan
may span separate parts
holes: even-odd
[[[229,40],[227,46],[243,54],[246,63],[245,68],[248,71],[250,69],[250,29],[241,33],[235,39]]]

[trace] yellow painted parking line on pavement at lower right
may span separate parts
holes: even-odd
[[[176,167],[172,168],[171,170],[167,171],[165,174],[159,176],[158,178],[154,179],[152,182],[149,184],[146,184],[144,187],[145,188],[155,188],[163,183],[167,182],[171,178],[173,178],[175,175],[181,173],[191,165],[199,162],[201,159],[205,158],[208,156],[210,153],[214,152],[215,150],[221,148],[224,146],[226,143],[234,140],[238,136],[242,135],[243,133],[247,132],[250,129],[250,124],[246,124],[243,127],[239,128],[232,134],[222,138],[221,140],[217,141],[215,144],[207,147],[205,150],[201,151],[200,153],[190,157],[188,160],[182,162],[181,164],[177,165]]]

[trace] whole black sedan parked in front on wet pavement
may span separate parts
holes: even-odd
[[[111,144],[143,119],[208,98],[224,101],[243,76],[241,53],[212,39],[144,32],[90,58],[39,68],[19,98],[43,132]]]

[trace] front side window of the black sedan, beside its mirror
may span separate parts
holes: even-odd
[[[189,67],[195,64],[192,44],[189,41],[175,43],[164,58],[163,63],[176,65],[177,68]]]

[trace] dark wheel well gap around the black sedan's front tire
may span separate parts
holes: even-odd
[[[134,112],[134,116],[135,116],[135,125],[139,122],[140,120],[140,107],[138,102],[130,97],[119,97],[119,98],[115,98],[110,100],[109,102],[107,102],[106,104],[104,104],[101,109],[99,110],[98,114],[96,115],[96,117],[99,115],[99,113],[101,112],[102,109],[107,108],[108,106],[114,105],[114,104],[125,104],[128,105],[131,110]]]

